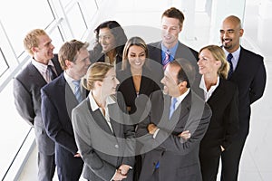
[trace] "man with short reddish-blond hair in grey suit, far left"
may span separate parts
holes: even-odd
[[[31,126],[34,126],[38,146],[38,180],[52,180],[54,175],[54,143],[44,130],[41,115],[42,87],[61,74],[62,68],[53,54],[52,40],[41,29],[34,29],[24,37],[24,48],[32,61],[14,79],[15,107]],[[53,73],[50,72],[53,66]]]

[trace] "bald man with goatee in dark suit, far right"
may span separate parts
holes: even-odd
[[[239,131],[231,146],[223,152],[221,180],[237,180],[239,160],[248,137],[250,105],[260,99],[266,87],[263,57],[244,49],[239,44],[244,30],[237,16],[230,15],[222,23],[220,38],[230,62],[228,80],[238,85]],[[231,54],[230,54],[231,53]]]

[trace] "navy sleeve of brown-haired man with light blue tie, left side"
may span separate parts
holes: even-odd
[[[50,99],[50,96],[48,96],[48,93],[44,89],[41,90],[41,93],[42,118],[48,136],[75,155],[78,148],[76,147],[73,135],[63,129],[59,120],[58,110],[55,108],[55,105],[53,105],[53,101]]]

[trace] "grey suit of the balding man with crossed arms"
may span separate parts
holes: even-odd
[[[169,108],[170,96],[160,90],[151,94],[149,118],[142,121],[136,131],[136,136],[141,137],[141,151],[144,153],[139,180],[200,181],[199,143],[208,129],[211,110],[191,90],[171,119]],[[160,129],[155,138],[147,131],[151,123]],[[184,130],[191,133],[187,141],[178,137]],[[158,161],[160,167],[155,168]]]

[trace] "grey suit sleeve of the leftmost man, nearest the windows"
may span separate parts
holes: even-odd
[[[34,125],[34,102],[32,93],[28,91],[22,81],[17,78],[14,79],[14,97],[15,107],[19,115],[26,120],[26,122],[33,126]]]

